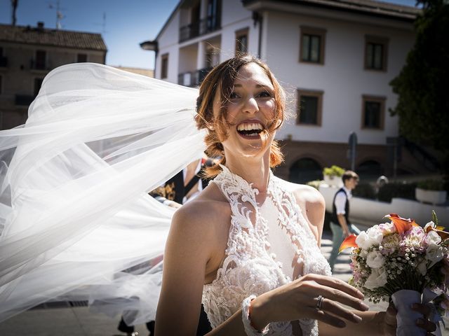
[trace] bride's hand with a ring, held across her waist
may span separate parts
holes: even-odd
[[[319,309],[319,295],[323,297]],[[330,276],[307,274],[284,286],[270,290],[251,302],[251,323],[262,330],[273,321],[314,318],[343,328],[344,320],[354,323],[361,318],[345,304],[360,311],[368,310],[363,294],[349,284]]]

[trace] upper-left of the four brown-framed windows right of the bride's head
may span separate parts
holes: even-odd
[[[326,29],[301,27],[300,62],[324,64]]]

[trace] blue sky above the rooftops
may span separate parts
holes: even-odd
[[[57,0],[18,0],[17,25],[43,21],[56,27]],[[60,0],[62,29],[101,33],[107,45],[106,64],[152,69],[154,52],[140,48],[152,40],[178,0]],[[415,6],[415,0],[386,2]],[[103,20],[105,15],[106,20]],[[105,22],[105,25],[104,25]],[[11,24],[11,0],[0,0],[0,23]]]

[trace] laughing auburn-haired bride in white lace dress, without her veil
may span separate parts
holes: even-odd
[[[319,250],[323,197],[270,170],[282,160],[274,135],[284,108],[259,59],[234,57],[203,81],[196,123],[222,160],[173,216],[156,335],[194,335],[201,302],[208,335],[396,335],[394,309],[367,311],[356,288],[330,277]]]

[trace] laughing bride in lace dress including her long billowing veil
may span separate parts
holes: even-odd
[[[0,321],[88,297],[127,324],[156,314],[156,335],[195,335],[201,302],[210,335],[395,335],[393,307],[330,277],[321,195],[270,170],[285,99],[267,65],[229,59],[196,96],[99,64],[48,74],[27,124],[0,132]],[[213,183],[175,213],[148,197],[203,138]]]

